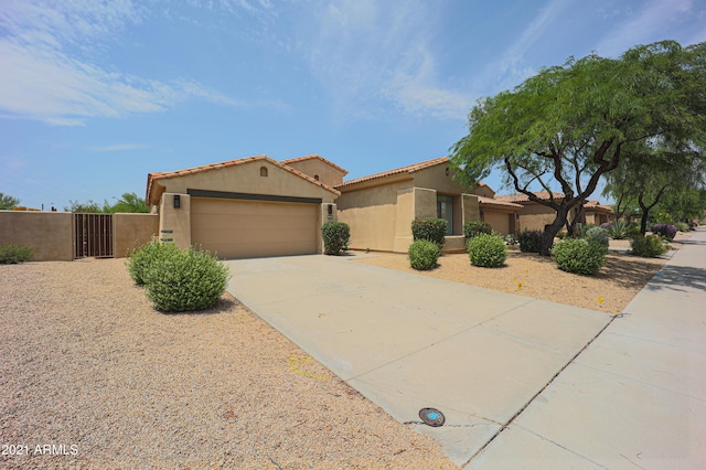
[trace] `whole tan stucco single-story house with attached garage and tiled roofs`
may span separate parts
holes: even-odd
[[[468,221],[516,232],[522,205],[494,199],[483,183],[468,191],[451,171],[441,157],[343,181],[347,172],[317,154],[257,156],[149,173],[146,201],[159,214],[160,239],[223,258],[321,253],[321,225],[335,220],[350,225],[351,248],[398,253],[411,243],[415,217],[448,221],[445,252],[464,250]]]

